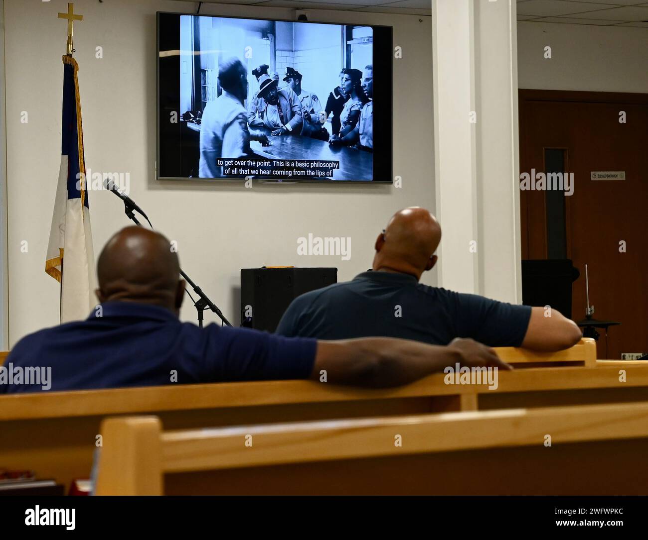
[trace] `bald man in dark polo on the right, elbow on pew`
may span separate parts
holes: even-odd
[[[557,310],[498,302],[419,283],[437,262],[441,226],[424,208],[401,210],[378,235],[373,270],[307,292],[288,306],[282,336],[344,340],[389,336],[446,345],[472,338],[491,347],[558,351],[581,330]]]

